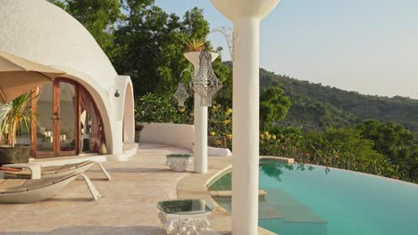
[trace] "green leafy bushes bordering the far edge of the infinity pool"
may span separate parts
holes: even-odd
[[[364,139],[355,128],[304,134],[295,128],[283,128],[277,134],[265,131],[260,134],[260,154],[295,158],[302,164],[405,179],[399,167],[391,165],[384,155],[373,150],[373,142]]]

